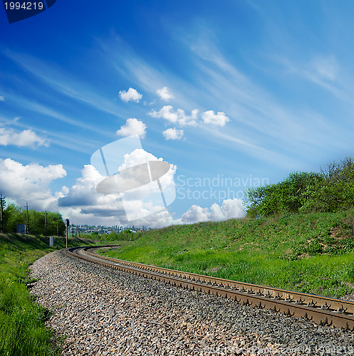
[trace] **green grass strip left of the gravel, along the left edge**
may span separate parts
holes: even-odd
[[[66,241],[56,238],[58,248]],[[70,246],[93,244],[93,241],[70,239]],[[0,355],[59,355],[60,340],[53,340],[46,328],[48,310],[34,303],[28,293],[28,265],[56,248],[48,238],[0,234]]]

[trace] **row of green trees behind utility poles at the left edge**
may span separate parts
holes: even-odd
[[[46,216],[47,215],[47,216]],[[47,218],[47,219],[46,219]],[[46,223],[47,221],[47,223]],[[3,211],[4,233],[15,233],[17,224],[27,224],[27,211],[15,204],[9,204]],[[58,227],[58,231],[57,231]],[[63,236],[66,226],[59,213],[28,209],[28,233],[31,235]]]

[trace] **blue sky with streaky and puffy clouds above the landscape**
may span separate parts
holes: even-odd
[[[353,10],[57,0],[9,24],[1,5],[1,191],[76,224],[125,224],[90,157],[140,134],[172,164],[176,199],[136,224],[241,216],[247,187],[353,156]]]

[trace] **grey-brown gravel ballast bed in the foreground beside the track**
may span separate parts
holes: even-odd
[[[65,251],[31,266],[62,355],[354,355],[354,333],[103,268]]]

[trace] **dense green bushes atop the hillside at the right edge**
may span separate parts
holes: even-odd
[[[354,206],[354,160],[327,164],[321,172],[295,172],[277,184],[248,189],[246,214],[337,212]]]

